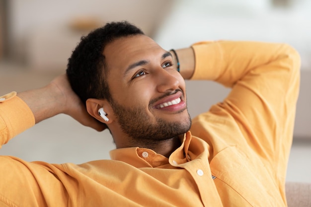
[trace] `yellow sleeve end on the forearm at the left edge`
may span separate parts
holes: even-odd
[[[34,125],[32,111],[16,92],[0,96],[0,147]]]

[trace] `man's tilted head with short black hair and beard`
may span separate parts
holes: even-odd
[[[119,28],[129,31],[121,35]],[[117,147],[176,137],[191,125],[185,82],[172,66],[171,54],[135,28],[119,22],[90,33],[67,70],[74,91],[89,114],[107,124]],[[97,114],[101,107],[108,122]]]

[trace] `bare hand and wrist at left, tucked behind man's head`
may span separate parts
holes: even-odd
[[[77,94],[72,90],[67,75],[56,77],[43,88],[25,91],[17,94],[32,110],[36,123],[64,113],[80,124],[103,131],[106,126],[91,117]]]

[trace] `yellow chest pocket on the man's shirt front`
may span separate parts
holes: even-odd
[[[216,154],[210,166],[224,207],[285,206],[279,188],[260,159],[246,156],[236,146]]]

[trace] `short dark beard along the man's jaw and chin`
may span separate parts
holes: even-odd
[[[153,123],[152,118],[143,110],[143,107],[127,108],[114,100],[111,101],[111,106],[122,131],[133,138],[135,142],[144,140],[145,142],[155,143],[155,141],[174,138],[186,133],[191,127],[189,113],[184,120],[179,122],[168,122],[156,118],[156,123]],[[177,113],[182,113],[184,110]]]

